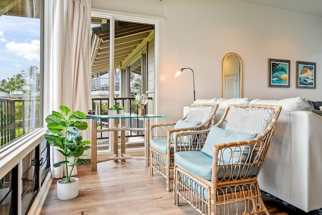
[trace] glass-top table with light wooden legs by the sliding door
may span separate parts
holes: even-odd
[[[166,118],[164,115],[144,115],[139,116],[135,114],[124,114],[118,116],[108,116],[108,115],[87,115],[87,119],[92,120],[92,170],[97,170],[97,163],[104,162],[108,160],[114,160],[117,162],[118,160],[125,161],[125,159],[140,159],[145,160],[145,166],[149,166],[149,148],[150,148],[150,140],[149,140],[149,127],[150,127],[150,119],[152,118]],[[113,128],[97,128],[97,120],[101,119],[112,119],[114,120]],[[142,119],[144,120],[144,128],[130,128],[125,126],[125,119]],[[143,131],[144,132],[144,157],[136,157],[129,156],[125,153],[125,131]],[[97,133],[99,132],[112,132],[114,137],[113,142],[113,156],[108,158],[97,158]],[[118,144],[119,144],[119,132],[121,132],[121,151],[119,154]]]

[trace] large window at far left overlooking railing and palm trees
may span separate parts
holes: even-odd
[[[42,126],[40,5],[0,5],[0,150]]]

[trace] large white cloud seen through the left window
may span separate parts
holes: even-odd
[[[7,43],[8,51],[15,53],[27,60],[40,60],[40,41],[33,40],[31,43],[16,43],[15,41]]]

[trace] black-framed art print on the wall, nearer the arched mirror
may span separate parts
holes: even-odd
[[[268,86],[290,87],[290,60],[268,59]]]

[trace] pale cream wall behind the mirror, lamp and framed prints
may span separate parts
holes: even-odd
[[[166,18],[157,90],[158,112],[168,121],[193,102],[192,73],[174,73],[194,70],[197,99],[221,97],[221,61],[229,52],[243,61],[244,97],[322,100],[322,18],[234,0],[92,0],[92,8]],[[290,88],[268,87],[268,58],[291,60]],[[316,62],[316,89],[295,87],[297,60]]]

